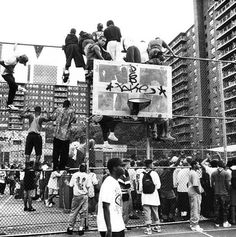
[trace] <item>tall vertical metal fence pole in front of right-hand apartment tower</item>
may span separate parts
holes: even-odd
[[[223,118],[222,119],[222,132],[223,132],[224,158],[225,158],[225,162],[227,163],[228,162],[228,157],[227,157],[227,135],[226,135],[226,117],[225,117],[225,102],[224,102],[222,63],[219,63],[218,70],[219,70],[221,109],[222,109],[222,118]]]

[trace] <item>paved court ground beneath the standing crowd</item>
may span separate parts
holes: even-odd
[[[50,237],[66,237],[65,230],[68,224],[68,212],[64,208],[59,207],[59,198],[55,199],[56,205],[53,208],[47,208],[42,202],[33,202],[36,212],[24,212],[22,200],[14,199],[9,194],[0,197],[0,236],[50,236]],[[140,220],[130,221],[131,226],[143,224],[143,218]],[[223,227],[216,228],[210,221],[201,222],[203,233],[192,232],[188,223],[164,224],[162,233],[153,234],[152,236],[166,237],[235,237],[236,226],[225,229]],[[89,228],[96,228],[96,217],[89,217]],[[126,236],[146,236],[143,234],[144,228],[132,228],[126,231]],[[6,235],[1,235],[5,233]],[[33,234],[34,233],[34,234]],[[53,234],[51,234],[53,233]],[[78,236],[74,232],[73,236]],[[99,237],[97,231],[87,231],[86,237]]]

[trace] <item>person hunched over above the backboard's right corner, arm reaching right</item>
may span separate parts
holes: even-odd
[[[169,45],[162,40],[160,37],[156,37],[154,40],[151,40],[148,44],[147,53],[149,60],[158,59],[159,63],[165,60],[163,56],[163,48],[168,49],[173,56],[175,56],[173,50],[169,47]]]

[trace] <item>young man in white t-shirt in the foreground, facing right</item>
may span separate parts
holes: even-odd
[[[124,237],[122,192],[118,178],[123,175],[122,161],[112,158],[107,163],[110,175],[103,181],[98,201],[97,225],[101,237]]]

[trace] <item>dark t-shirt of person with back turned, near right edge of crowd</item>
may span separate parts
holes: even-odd
[[[215,194],[229,195],[230,174],[224,169],[217,169],[211,175]]]

